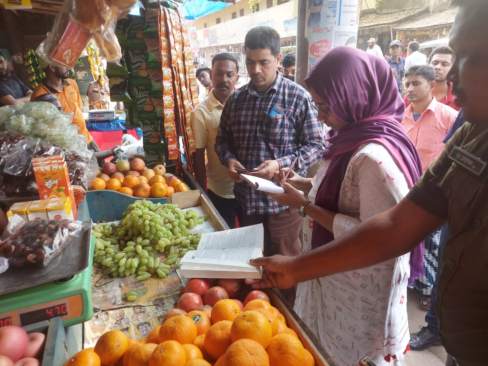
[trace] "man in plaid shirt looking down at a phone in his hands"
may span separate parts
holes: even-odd
[[[235,168],[271,179],[289,167],[305,177],[324,149],[317,110],[310,94],[282,78],[280,35],[267,26],[252,28],[245,37],[246,67],[251,81],[230,95],[220,120],[215,151],[235,182],[234,194],[244,210],[244,225],[264,224],[264,255],[294,256],[302,252],[298,210],[278,204],[266,193],[242,182]]]

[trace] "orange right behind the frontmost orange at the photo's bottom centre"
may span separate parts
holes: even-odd
[[[256,310],[244,311],[239,314],[230,329],[232,342],[247,338],[258,342],[264,348],[268,346],[271,334],[271,325],[268,320]]]

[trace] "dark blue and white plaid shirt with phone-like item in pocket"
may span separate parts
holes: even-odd
[[[298,157],[294,170],[305,177],[306,169],[320,159],[325,145],[311,99],[304,88],[278,72],[263,96],[259,96],[252,82],[233,92],[225,104],[215,139],[220,161],[227,166],[235,159],[251,169],[265,160],[277,160],[284,168]],[[275,106],[278,111],[274,111]],[[284,112],[276,114],[281,109]],[[274,115],[270,115],[272,111]],[[244,182],[235,183],[234,194],[247,215],[274,214],[286,209]]]

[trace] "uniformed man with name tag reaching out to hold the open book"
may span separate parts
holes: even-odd
[[[435,302],[441,342],[453,357],[447,366],[486,366],[488,48],[480,45],[488,32],[488,1],[454,0],[452,4],[459,5],[449,33],[456,58],[447,81],[467,122],[395,207],[304,255],[251,260],[265,267],[263,279],[246,283],[254,288],[287,288],[312,276],[371,266],[408,253],[448,223],[450,239],[444,248]]]

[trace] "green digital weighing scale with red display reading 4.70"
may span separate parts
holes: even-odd
[[[69,279],[50,281],[1,295],[0,327],[25,326],[58,316],[61,317],[63,326],[75,325],[91,319],[93,316],[91,297],[93,256],[90,254],[94,250],[95,238],[91,235],[91,230],[88,233],[91,239],[88,245],[87,267],[72,278],[69,276]],[[64,248],[64,251],[66,250],[70,250],[70,244]],[[57,264],[54,263],[54,265]],[[29,268],[23,268],[23,270],[28,271]],[[4,286],[9,285],[2,275],[0,275],[0,280]],[[39,278],[34,277],[32,280],[33,282],[39,281]]]

